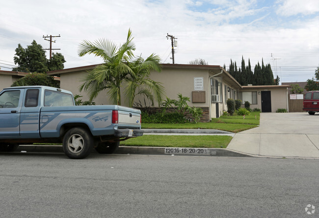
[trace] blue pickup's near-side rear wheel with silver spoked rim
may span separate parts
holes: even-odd
[[[71,159],[83,159],[90,154],[93,142],[87,130],[72,128],[63,137],[63,151]]]

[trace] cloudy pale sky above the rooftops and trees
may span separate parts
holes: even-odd
[[[241,66],[270,63],[280,82],[303,82],[319,66],[319,0],[6,0],[0,7],[0,67],[12,70],[15,49],[43,35],[59,35],[53,52],[62,53],[64,68],[101,63],[93,54],[78,56],[82,40],[109,39],[121,44],[131,28],[135,55],[160,55],[172,63],[203,58],[210,65],[230,59]],[[49,57],[49,52],[47,52]]]

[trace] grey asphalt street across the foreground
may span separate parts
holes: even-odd
[[[318,181],[318,160],[0,153],[0,217],[319,217]]]

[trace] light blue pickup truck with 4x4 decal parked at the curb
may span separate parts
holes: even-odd
[[[48,86],[19,86],[0,92],[0,151],[19,144],[62,143],[71,159],[94,147],[113,153],[120,141],[142,136],[141,112],[117,105],[75,106],[71,92]]]

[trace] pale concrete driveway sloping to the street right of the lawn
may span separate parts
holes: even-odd
[[[236,134],[227,148],[265,157],[319,158],[319,113],[261,113],[260,126]]]

